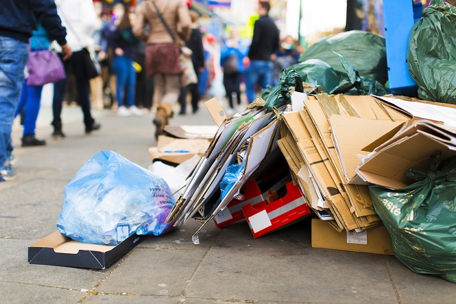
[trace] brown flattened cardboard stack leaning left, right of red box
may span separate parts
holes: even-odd
[[[368,183],[355,172],[358,157],[372,141],[403,128],[407,117],[370,96],[320,94],[302,103],[302,110],[283,115],[291,135],[279,147],[312,209],[339,231],[378,226]]]

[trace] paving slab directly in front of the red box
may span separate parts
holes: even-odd
[[[397,302],[383,257],[311,248],[306,229],[302,224],[255,240],[240,226],[224,230],[186,295],[237,301]]]

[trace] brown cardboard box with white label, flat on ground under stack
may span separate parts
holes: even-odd
[[[377,226],[361,233],[337,232],[324,220],[312,219],[312,247],[393,255],[391,236],[385,226]]]

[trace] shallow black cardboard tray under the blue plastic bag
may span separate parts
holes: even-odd
[[[29,246],[29,264],[106,269],[139,244],[144,235],[130,235],[117,246],[74,241],[56,231]]]

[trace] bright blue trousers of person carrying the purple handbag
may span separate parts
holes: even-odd
[[[40,112],[42,91],[43,86],[27,86],[27,80],[24,80],[21,100],[19,101],[19,106],[16,108],[16,113],[14,113],[14,117],[16,117],[25,107],[23,136],[35,135],[36,119]]]

